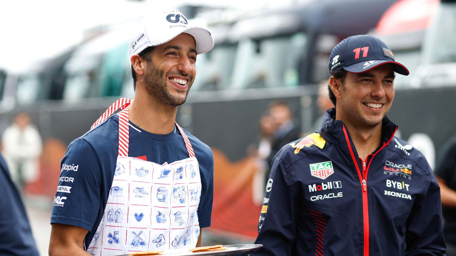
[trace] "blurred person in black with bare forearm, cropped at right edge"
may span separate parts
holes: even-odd
[[[446,255],[456,256],[456,136],[443,145],[437,156],[435,178],[440,185]]]

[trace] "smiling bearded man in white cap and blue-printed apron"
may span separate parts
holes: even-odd
[[[212,151],[175,119],[213,38],[175,9],[139,28],[130,39],[135,97],[115,102],[62,159],[50,255],[191,248],[211,224]]]

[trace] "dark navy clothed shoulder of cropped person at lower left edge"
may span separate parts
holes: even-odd
[[[0,155],[0,255],[39,256],[26,209]]]

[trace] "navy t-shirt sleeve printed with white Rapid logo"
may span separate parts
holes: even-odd
[[[51,224],[73,225],[92,230],[100,209],[101,166],[93,147],[78,138],[61,162]]]

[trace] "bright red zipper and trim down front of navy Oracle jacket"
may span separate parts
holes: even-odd
[[[358,167],[358,162],[355,158],[355,154],[353,153],[352,145],[350,144],[350,140],[348,139],[348,133],[347,130],[345,129],[345,125],[342,127],[345,139],[347,141],[348,149],[350,151],[350,155],[352,156],[353,164],[355,164],[356,171],[358,172],[358,178],[362,186],[362,192],[363,192],[363,234],[364,234],[364,248],[363,248],[363,256],[369,256],[369,207],[368,207],[368,184],[366,179],[368,178],[368,171],[369,171],[369,166],[372,163],[373,157],[380,152],[386,145],[391,142],[391,140],[394,137],[394,133],[396,133],[397,127],[394,129],[393,135],[391,135],[391,138],[389,138],[389,141],[387,143],[383,143],[383,146],[378,149],[375,154],[369,154],[372,155],[372,158],[369,161],[369,164],[366,166],[366,162],[363,161],[363,159],[360,158],[361,162],[363,163],[363,174],[361,174],[361,171],[359,170]],[[367,156],[366,160],[369,158],[369,155]]]

